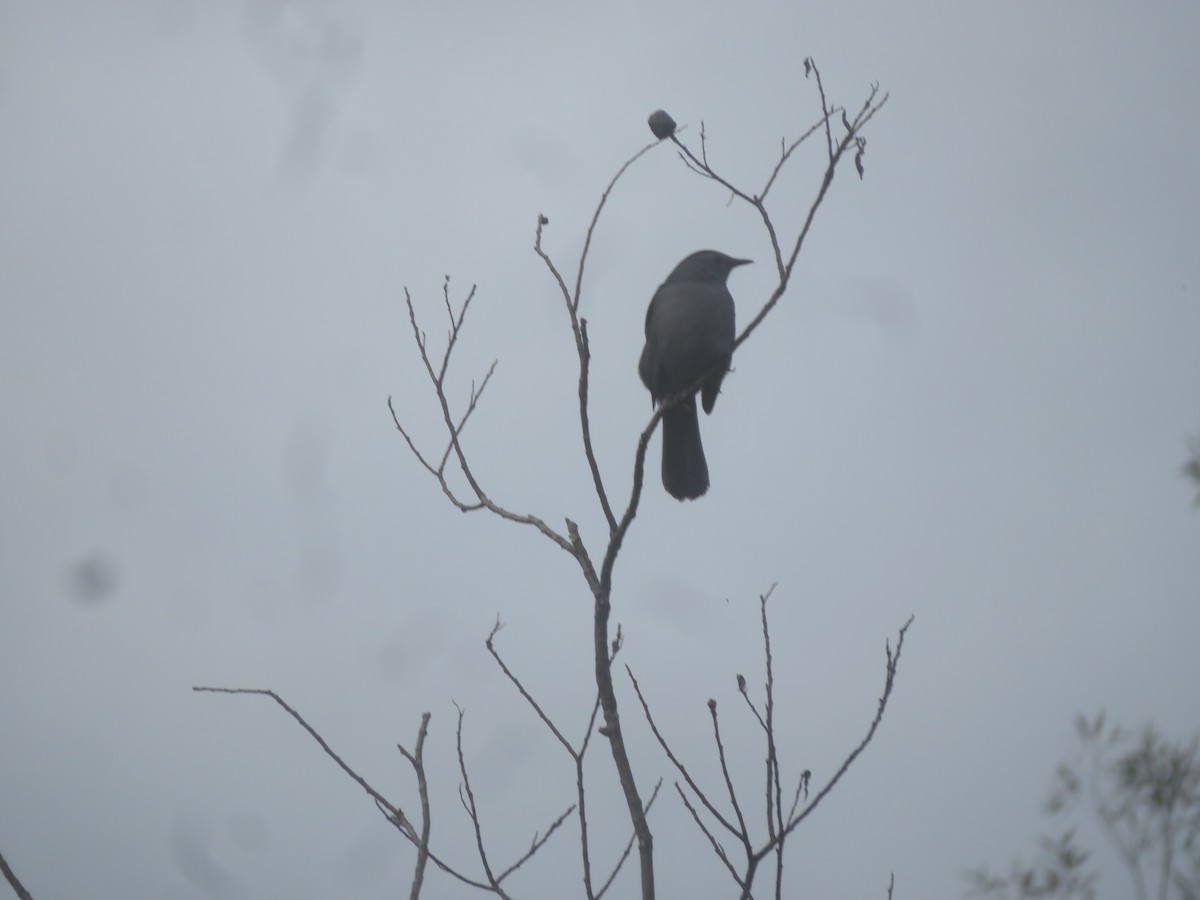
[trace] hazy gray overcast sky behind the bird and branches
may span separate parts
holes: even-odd
[[[733,679],[761,683],[778,581],[786,764],[823,782],[916,613],[877,740],[791,846],[796,894],[847,898],[890,871],[896,896],[956,896],[961,869],[1031,848],[1076,712],[1200,726],[1195,4],[115,8],[0,2],[0,848],[36,896],[403,893],[409,847],[281,710],[193,684],[278,690],[402,804],[395,744],[432,710],[434,840],[468,869],[451,700],[498,858],[571,802],[482,641],[499,614],[578,736],[589,595],[409,456],[389,395],[440,437],[403,286],[436,343],[443,276],[479,284],[451,379],[461,401],[499,358],[478,472],[598,552],[535,217],[572,268],[656,107],[692,140],[703,119],[755,190],[816,118],[810,54],[833,102],[892,98],[702,421],[709,494],[671,500],[652,448],[614,617],[662,726],[712,778],[716,697],[757,796]],[[820,151],[775,188],[787,234]],[[658,148],[584,280],[617,497],[649,416],[646,302],[707,246],[768,259],[755,216]],[[769,266],[731,287],[744,322]],[[670,778],[623,700],[642,782]],[[606,748],[593,763],[607,859],[628,828]],[[732,894],[671,793],[653,824],[664,895]],[[575,838],[554,841],[518,892],[575,890]]]

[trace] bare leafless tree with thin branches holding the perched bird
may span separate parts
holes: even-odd
[[[775,284],[770,289],[768,296],[763,300],[756,314],[750,318],[745,328],[740,331],[740,334],[738,334],[734,347],[739,348],[746,340],[749,340],[780,299],[786,294],[791,283],[797,258],[799,257],[805,239],[812,227],[817,210],[821,208],[834,181],[835,173],[842,163],[852,158],[859,176],[863,175],[863,156],[866,148],[866,138],[863,132],[866,125],[887,101],[887,95],[880,94],[878,85],[872,85],[866,95],[866,98],[853,112],[840,106],[830,104],[826,96],[821,73],[811,59],[804,60],[804,71],[805,77],[811,78],[812,83],[816,85],[821,104],[820,116],[817,116],[816,121],[803,131],[799,137],[790,142],[780,142],[779,158],[774,162],[770,169],[764,173],[762,185],[757,191],[750,191],[740,187],[731,179],[721,174],[719,168],[709,158],[707,134],[703,122],[701,122],[700,126],[698,143],[689,144],[682,139],[680,132],[677,131],[674,121],[671,120],[666,113],[659,110],[650,116],[649,122],[656,140],[643,146],[623,166],[620,166],[617,174],[601,194],[588,227],[587,235],[583,240],[583,246],[574,274],[564,274],[564,270],[553,260],[551,253],[546,250],[544,239],[550,220],[545,215],[538,216],[534,228],[533,251],[542,260],[550,277],[554,281],[559,289],[564,308],[568,314],[571,340],[574,341],[578,359],[578,427],[583,440],[583,456],[592,478],[599,510],[606,523],[606,533],[598,540],[594,539],[595,544],[601,547],[599,551],[589,550],[580,527],[571,518],[565,518],[563,526],[558,527],[551,524],[542,516],[534,512],[522,511],[517,506],[511,505],[508,500],[494,497],[488,492],[486,485],[482,484],[482,480],[473,464],[473,456],[468,452],[468,448],[463,440],[463,434],[472,414],[479,407],[484,392],[496,372],[497,364],[493,361],[488,367],[486,367],[485,371],[482,371],[481,376],[472,383],[469,394],[462,406],[456,406],[451,401],[446,389],[446,376],[451,371],[451,364],[455,360],[455,350],[460,346],[460,337],[467,323],[468,310],[470,308],[472,301],[476,296],[476,288],[474,286],[470,287],[462,295],[462,299],[456,301],[451,295],[450,278],[446,277],[443,282],[442,305],[446,316],[446,338],[444,346],[440,348],[434,348],[432,346],[425,329],[419,322],[418,304],[414,301],[408,288],[404,289],[404,304],[408,311],[414,348],[425,368],[428,378],[430,391],[440,412],[442,427],[444,428],[444,444],[439,445],[436,450],[430,450],[419,445],[419,442],[414,437],[414,432],[406,426],[392,400],[389,398],[389,410],[391,412],[392,421],[395,422],[397,431],[402,436],[418,463],[434,480],[449,503],[463,512],[487,511],[500,520],[505,520],[518,526],[526,526],[536,530],[575,559],[578,565],[580,574],[583,577],[592,596],[594,611],[592,653],[594,658],[595,696],[590,702],[590,714],[587,716],[581,736],[576,739],[569,738],[566,734],[568,730],[560,727],[551,719],[550,715],[547,715],[542,704],[539,703],[533,694],[526,688],[522,679],[500,656],[496,647],[497,634],[500,629],[499,622],[496,623],[486,641],[488,653],[492,655],[504,676],[516,688],[529,707],[536,713],[554,740],[575,763],[575,802],[566,809],[565,812],[554,820],[544,833],[534,836],[528,851],[520,858],[512,860],[508,866],[499,866],[491,859],[487,850],[485,830],[481,824],[480,810],[470,784],[467,764],[463,758],[463,714],[461,709],[458,710],[456,740],[461,775],[460,799],[474,829],[476,845],[475,856],[478,857],[479,868],[482,871],[481,876],[466,875],[461,868],[452,866],[443,857],[443,854],[434,853],[433,848],[430,847],[430,799],[421,756],[426,727],[428,724],[428,714],[426,714],[422,719],[413,751],[401,748],[401,752],[414,769],[414,775],[418,782],[421,802],[421,818],[420,826],[418,826],[396,804],[384,798],[382,793],[379,793],[376,788],[367,784],[365,779],[347,766],[325,743],[320,734],[312,726],[310,726],[295,709],[293,709],[272,691],[221,688],[196,689],[202,691],[264,695],[274,700],[278,706],[293,715],[300,725],[304,726],[318,743],[320,743],[325,752],[330,755],[330,757],[334,758],[334,761],[364,790],[366,790],[368,796],[371,796],[388,820],[416,847],[418,857],[412,881],[412,898],[416,898],[420,894],[428,862],[432,862],[444,872],[448,872],[450,876],[467,884],[472,884],[502,898],[509,896],[506,887],[506,880],[509,876],[528,862],[541,847],[544,847],[546,841],[550,840],[551,836],[556,834],[563,823],[571,816],[574,816],[577,823],[580,859],[582,866],[582,886],[583,894],[588,898],[588,900],[598,900],[605,895],[607,889],[612,886],[613,880],[620,870],[623,863],[631,854],[632,846],[635,844],[637,846],[638,856],[641,896],[643,900],[653,900],[655,895],[654,841],[648,811],[658,797],[661,780],[659,780],[655,787],[650,791],[647,791],[644,785],[638,785],[625,739],[625,725],[619,715],[618,695],[613,677],[613,661],[622,649],[624,637],[622,635],[620,626],[618,625],[614,631],[611,622],[613,572],[620,556],[622,546],[637,516],[646,474],[647,448],[650,438],[653,437],[655,428],[658,428],[664,412],[677,403],[686,402],[695,395],[701,383],[710,373],[706,372],[704,377],[698,379],[688,390],[680,391],[677,396],[667,398],[659,406],[637,439],[634,455],[634,469],[628,487],[616,488],[617,493],[614,493],[614,488],[611,487],[611,482],[607,482],[601,473],[592,440],[589,416],[592,350],[588,341],[588,320],[581,313],[584,299],[583,275],[593,236],[595,234],[596,223],[600,220],[601,212],[604,211],[611,193],[617,187],[618,181],[632,164],[642,158],[642,156],[650,152],[659,145],[670,143],[678,154],[686,170],[698,175],[703,179],[703,181],[719,187],[726,192],[732,200],[748,204],[755,210],[761,220],[767,240],[772,248]],[[817,184],[815,197],[811,200],[806,215],[804,215],[800,222],[791,224],[786,222],[776,222],[776,220],[772,216],[772,206],[769,205],[769,200],[773,199],[772,188],[776,185],[784,167],[793,160],[797,148],[809,139],[823,139],[826,150],[826,162]],[[791,204],[785,204],[784,208],[791,209]],[[787,236],[788,233],[791,236]],[[462,486],[463,482],[464,486]],[[625,499],[616,499],[619,496],[625,497]],[[654,724],[650,706],[642,696],[637,682],[632,679],[632,672],[629,672],[629,677],[635,690],[637,691],[643,712],[652,730],[654,731],[655,737],[659,739],[659,743],[666,752],[668,760],[672,764],[674,764],[677,772],[680,773],[680,776],[688,787],[685,791],[679,782],[676,784],[679,797],[683,799],[688,810],[690,810],[694,821],[700,826],[703,835],[708,839],[713,851],[730,870],[733,881],[739,888],[740,896],[743,898],[751,896],[751,886],[755,880],[756,870],[763,860],[772,856],[775,862],[775,896],[780,896],[784,868],[782,853],[786,839],[796,829],[799,822],[806,818],[816,809],[816,806],[842,778],[853,761],[874,737],[876,728],[883,718],[888,697],[890,696],[893,689],[896,665],[900,658],[900,649],[902,647],[905,631],[908,628],[908,625],[905,624],[905,626],[900,630],[894,650],[890,644],[887,647],[887,670],[883,694],[880,698],[878,708],[869,725],[865,737],[848,752],[840,769],[815,792],[811,799],[809,799],[811,775],[808,772],[800,774],[796,780],[794,791],[791,786],[788,787],[787,793],[792,799],[788,804],[786,804],[787,809],[785,811],[785,776],[780,770],[779,754],[775,744],[774,715],[776,700],[774,694],[774,678],[772,673],[770,636],[767,620],[767,596],[769,593],[770,592],[761,598],[766,658],[766,696],[758,702],[751,700],[751,696],[745,688],[744,678],[738,676],[739,690],[745,698],[750,713],[757,719],[758,726],[763,732],[768,751],[766,773],[768,785],[768,815],[764,823],[764,834],[762,836],[752,836],[751,828],[743,816],[742,804],[739,803],[733,786],[733,780],[726,763],[726,751],[720,737],[715,701],[709,701],[709,708],[712,710],[714,739],[721,757],[721,768],[725,773],[725,787],[728,793],[730,808],[732,812],[722,812],[719,810],[718,805],[709,798],[709,796],[688,775],[685,768],[679,761],[679,756],[671,749],[668,742],[664,738]],[[602,721],[600,721],[598,726],[599,720]],[[598,870],[596,868],[596,848],[593,846],[587,816],[584,757],[589,748],[593,745],[593,734],[599,734],[607,740],[610,752],[612,754],[613,762],[616,764],[619,790],[624,797],[632,832],[624,851],[614,853],[614,858],[611,859],[604,870]],[[731,856],[715,838],[710,826],[707,824],[700,815],[695,803],[698,803],[707,811],[707,815],[713,818],[713,821],[733,835],[744,851],[745,859],[743,863],[734,864],[732,862]],[[889,886],[889,895],[890,889],[892,888]]]

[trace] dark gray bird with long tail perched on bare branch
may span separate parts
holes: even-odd
[[[733,298],[725,280],[749,262],[702,250],[679,263],[654,292],[637,364],[652,402],[698,384],[704,412],[713,412],[733,359]],[[694,500],[708,490],[695,395],[662,414],[662,486],[677,500]]]

